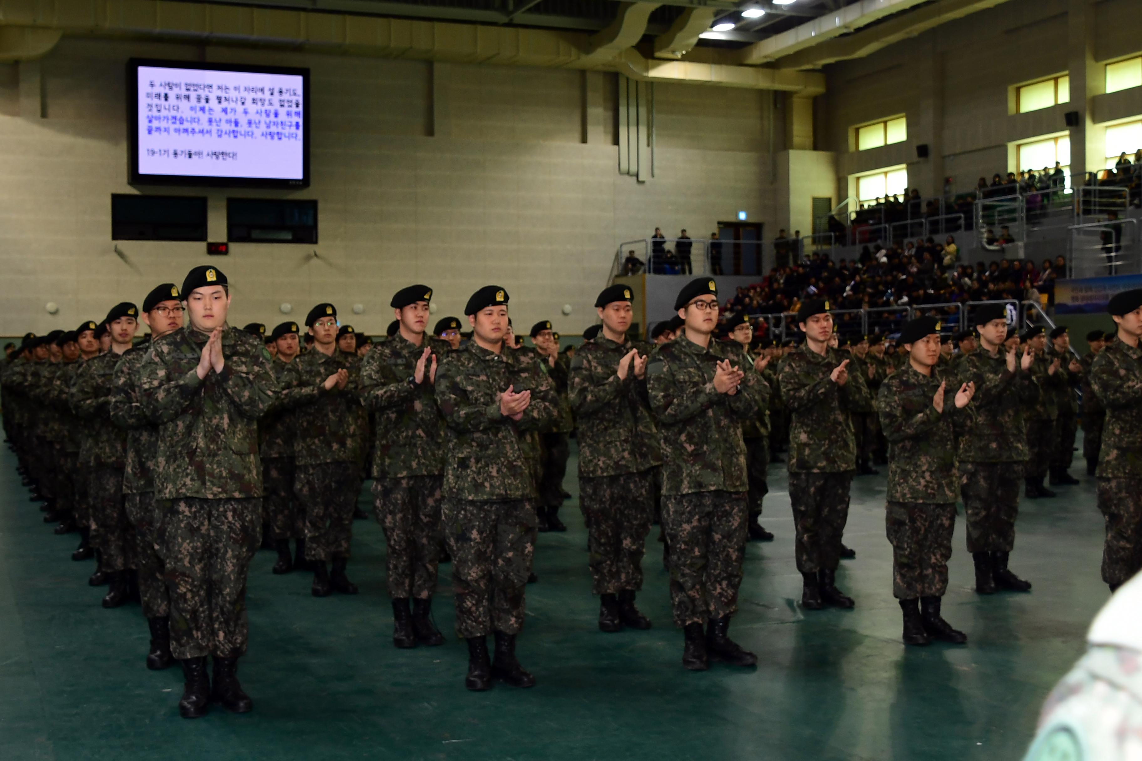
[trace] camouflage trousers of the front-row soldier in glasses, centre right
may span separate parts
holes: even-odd
[[[662,495],[676,626],[737,613],[748,523],[745,492]]]

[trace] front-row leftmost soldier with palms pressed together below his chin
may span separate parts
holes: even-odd
[[[190,319],[152,342],[139,399],[159,424],[159,557],[170,650],[185,675],[178,710],[194,719],[210,701],[235,713],[254,707],[238,681],[238,658],[249,639],[246,580],[262,531],[257,421],[278,382],[262,341],[226,324],[231,297],[219,269],[195,267],[179,292]]]

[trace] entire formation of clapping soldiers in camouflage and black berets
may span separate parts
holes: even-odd
[[[870,461],[887,462],[893,593],[908,643],[966,641],[940,612],[957,499],[976,591],[1030,589],[1007,567],[1020,478],[1032,497],[1053,494],[1048,470],[1073,483],[1076,386],[1086,390],[1086,455],[1107,516],[1103,578],[1113,589],[1142,562],[1142,291],[1115,297],[1117,340],[1083,363],[1070,361],[1064,331],[1049,348],[1042,331],[1008,339],[999,303],[975,310],[975,331],[957,337],[950,357],[930,317],[904,325],[895,353],[872,337],[844,354],[823,300],[802,306],[803,346],[755,353],[742,316],[724,323],[729,341],[715,340],[711,280],[682,289],[653,343],[627,338],[632,293],[616,285],[596,301],[597,334],[572,357],[549,322],[532,327],[534,349],[517,348],[499,286],[468,300],[466,342],[455,317],[428,333],[431,299],[424,285],[399,291],[391,339],[368,350],[332,303],[317,305],[303,351],[296,323],[268,335],[228,326],[225,275],[198,267],[182,288],[155,288],[140,310],[121,303],[77,331],[27,335],[10,357],[3,420],[25,484],[58,532],[80,531],[73,558],[98,558],[90,582],[110,585],[105,606],[140,598],[147,666],[182,663],[182,715],[201,717],[211,702],[252,707],[236,671],[260,542],[278,550],[275,574],[312,572],[314,596],[356,592],[346,570],[367,477],[387,542],[394,645],[443,643],[431,606],[450,557],[466,687],[532,686],[515,641],[537,532],[565,529],[557,512],[572,430],[598,626],[651,626],[635,600],[658,519],[692,670],[756,663],[729,626],[746,543],[772,539],[758,517],[782,442],[806,609],[855,605],[836,585],[852,554],[842,543],[850,486],[876,472]],[[150,341],[132,346],[139,319]],[[1103,407],[1115,414],[1102,414],[1099,450]]]

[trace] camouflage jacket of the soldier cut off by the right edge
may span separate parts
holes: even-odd
[[[1099,353],[1091,386],[1107,410],[1099,478],[1142,478],[1142,347],[1115,341]]]

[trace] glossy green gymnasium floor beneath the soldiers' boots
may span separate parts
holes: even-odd
[[[572,460],[566,486],[576,491]],[[1079,468],[1072,469],[1076,475]],[[763,524],[749,545],[731,633],[756,670],[690,673],[669,623],[666,574],[651,540],[640,598],[656,628],[595,626],[577,503],[565,534],[541,534],[540,582],[528,591],[520,655],[538,686],[464,689],[466,649],[452,632],[448,566],[436,617],[449,642],[396,650],[384,586],[385,543],[355,524],[351,576],[361,594],[319,600],[309,577],[250,574],[250,653],[240,674],[255,711],[178,718],[180,672],[143,665],[137,606],[104,610],[104,589],[72,562],[77,537],[54,536],[0,456],[0,759],[764,759],[938,761],[1019,759],[1039,705],[1083,651],[1107,599],[1094,486],[1024,503],[1012,568],[1030,594],[979,598],[963,517],[944,615],[967,647],[906,649],[891,593],[884,476],[856,480],[841,585],[853,612],[803,615],[782,465],[771,465]],[[367,493],[362,492],[362,501]],[[657,536],[656,533],[652,536]]]

